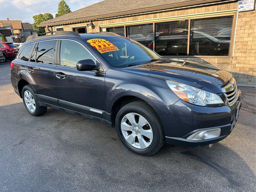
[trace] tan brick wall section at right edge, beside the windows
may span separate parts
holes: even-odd
[[[231,72],[243,85],[256,85],[256,11],[239,12]]]

